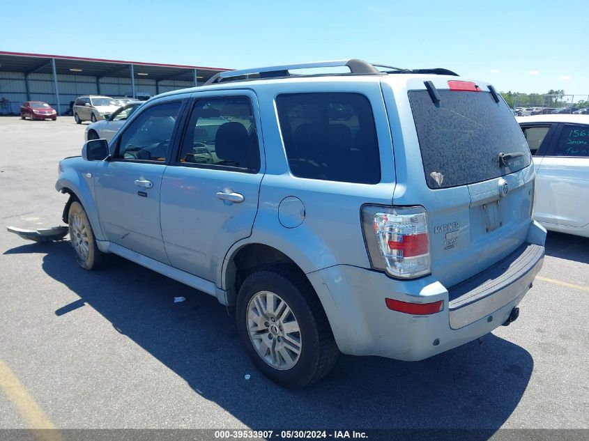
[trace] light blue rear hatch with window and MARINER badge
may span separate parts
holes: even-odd
[[[393,203],[427,210],[431,274],[450,287],[526,240],[533,167],[519,125],[492,87],[436,77],[428,91],[427,80],[395,91],[413,121],[399,121]]]

